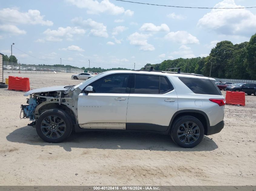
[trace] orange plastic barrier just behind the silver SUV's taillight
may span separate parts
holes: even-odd
[[[226,104],[245,106],[245,93],[241,91],[226,91]]]

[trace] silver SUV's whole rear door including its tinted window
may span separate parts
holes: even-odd
[[[178,111],[177,94],[166,76],[133,74],[126,129],[166,131]]]

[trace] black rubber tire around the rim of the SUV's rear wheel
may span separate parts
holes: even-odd
[[[185,122],[188,122],[188,121],[194,122],[198,125],[198,127],[200,129],[200,135],[199,135],[199,138],[196,142],[191,143],[191,144],[184,144],[178,139],[177,131],[178,131],[179,126],[182,123],[185,123]],[[176,119],[174,121],[174,123],[172,124],[172,126],[171,126],[171,138],[172,138],[172,140],[177,145],[179,145],[183,148],[193,148],[193,147],[195,147],[196,145],[198,145],[202,141],[203,137],[204,137],[204,126],[203,126],[203,124],[201,123],[201,121],[199,119],[197,119],[193,116],[181,116],[178,119]]]

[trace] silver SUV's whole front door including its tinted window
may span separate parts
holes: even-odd
[[[130,74],[102,77],[90,86],[93,93],[78,96],[78,123],[85,129],[125,129]]]

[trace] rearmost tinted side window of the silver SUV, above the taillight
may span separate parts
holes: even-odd
[[[185,77],[179,79],[195,94],[221,95],[214,82],[208,79]]]

